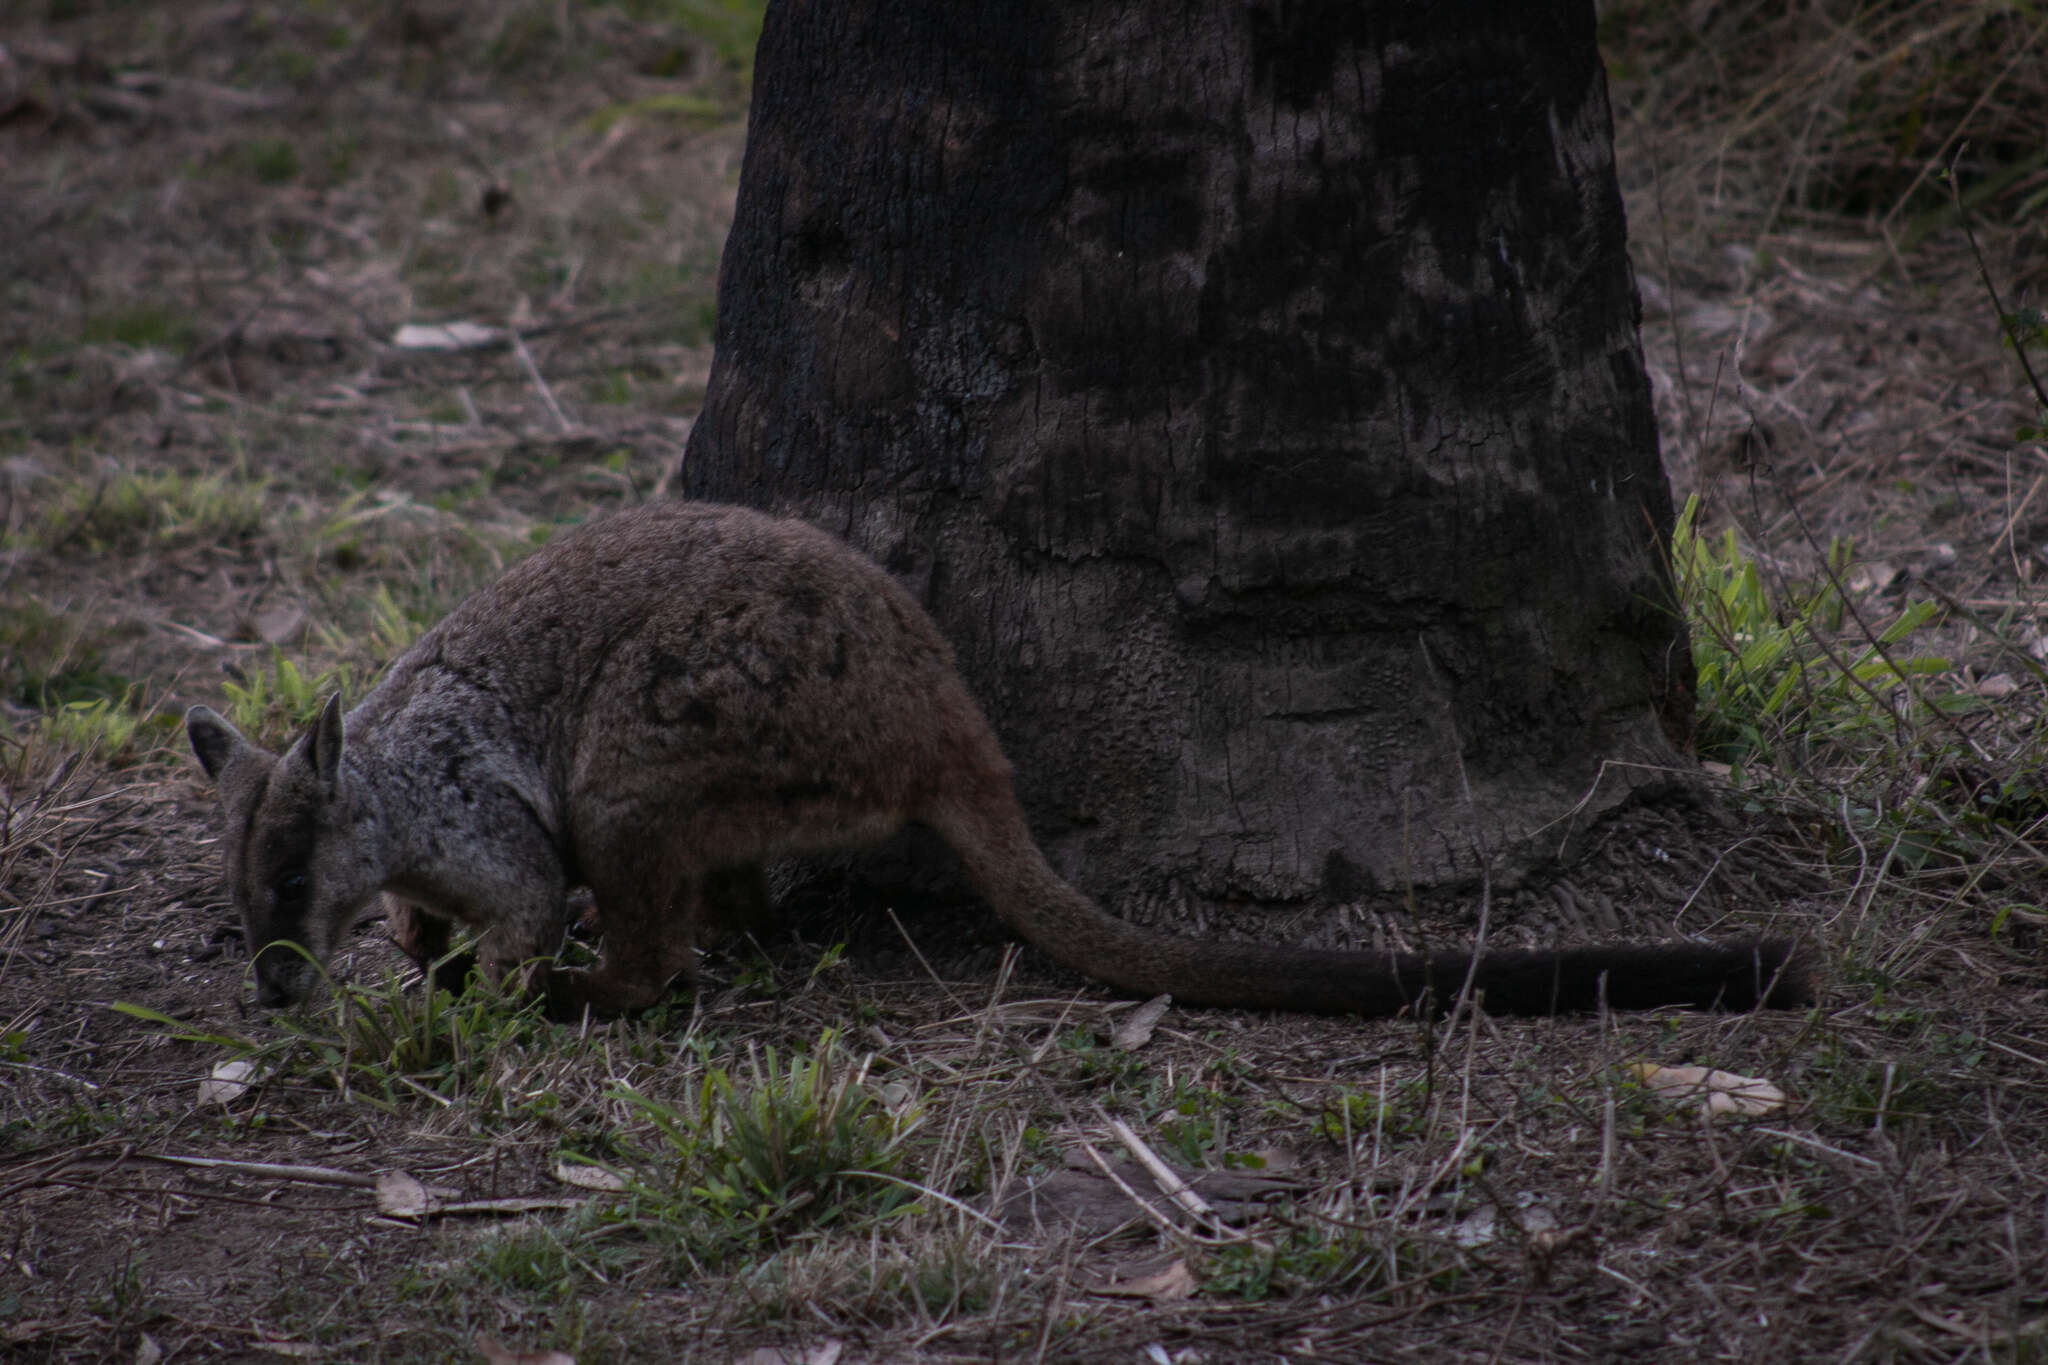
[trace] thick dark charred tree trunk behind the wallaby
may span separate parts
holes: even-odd
[[[1137,919],[1507,884],[1690,718],[1587,0],[774,0],[680,485],[901,575]]]

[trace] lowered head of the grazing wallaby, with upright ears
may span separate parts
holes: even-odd
[[[289,1005],[383,884],[377,814],[342,765],[342,700],[283,755],[205,706],[184,733],[221,790],[221,880],[256,954],[256,999]]]

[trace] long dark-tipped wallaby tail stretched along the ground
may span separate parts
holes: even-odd
[[[999,796],[991,788],[979,802],[944,802],[928,823],[1012,929],[1061,966],[1118,990],[1171,995],[1186,1005],[1384,1017],[1446,1009],[1473,968],[1466,952],[1270,948],[1141,929],[1053,872],[1008,784]],[[1784,939],[1489,952],[1470,976],[1483,1005],[1503,1015],[1581,1013],[1602,1003],[1796,1009],[1815,999],[1806,962]]]

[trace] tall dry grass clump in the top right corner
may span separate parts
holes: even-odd
[[[1853,223],[1905,270],[1956,225],[1954,168],[1970,211],[2038,231],[2048,16],[1942,0],[1602,8],[1624,176],[1665,227],[1726,241]]]

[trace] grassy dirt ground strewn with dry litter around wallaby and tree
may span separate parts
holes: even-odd
[[[985,927],[928,970],[915,917],[811,925],[721,960],[694,1011],[582,1031],[428,1015],[379,984],[375,927],[336,1005],[252,1011],[174,718],[238,704],[276,739],[551,528],[659,493],[709,368],[743,14],[16,14],[0,1359],[2048,1355],[2032,399],[1954,223],[1911,192],[1796,209],[1800,147],[1745,141],[1761,96],[1688,102],[1712,82],[1683,41],[1608,35],[1673,487],[1784,600],[1853,540],[1841,639],[1935,604],[1896,649],[1960,702],[1878,706],[1862,747],[1784,704],[1720,808],[1636,812],[1499,909],[1536,937],[1780,923],[1819,945],[1823,1007],[1169,1011],[1118,1046],[1135,1005]],[[2040,223],[1982,225],[2007,307],[2048,287]],[[399,334],[451,321],[522,340]],[[782,1093],[797,1054],[793,1111],[850,1146],[748,1195],[723,1154],[791,1144],[715,1078]],[[203,1095],[229,1060],[254,1085]],[[1790,1103],[1702,1121],[1645,1060]]]

